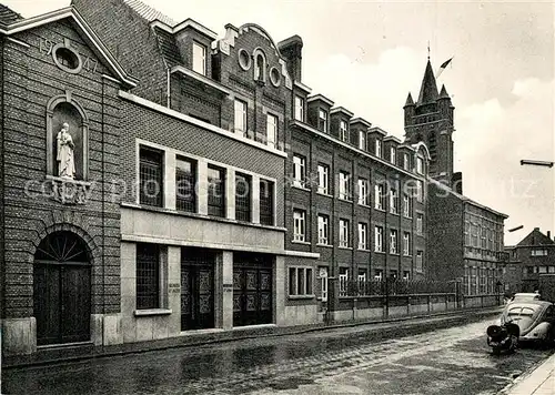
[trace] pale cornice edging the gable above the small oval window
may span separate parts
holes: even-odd
[[[12,36],[22,31],[34,29],[37,27],[52,23],[59,20],[69,19],[71,24],[82,33],[82,38],[89,44],[90,49],[99,60],[125,85],[135,87],[138,80],[129,75],[121,67],[118,60],[110,53],[92,28],[73,8],[67,7],[60,10],[43,13],[41,16],[17,20],[8,26],[0,26],[0,34]]]

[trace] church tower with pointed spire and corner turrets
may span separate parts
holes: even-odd
[[[414,102],[411,93],[405,105],[405,142],[423,142],[430,150],[432,161],[430,175],[453,186],[453,112],[455,108],[442,87],[437,92],[437,82],[430,59],[420,89],[418,100]]]

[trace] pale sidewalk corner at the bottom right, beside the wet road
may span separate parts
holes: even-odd
[[[555,394],[555,354],[534,371],[518,377],[515,383],[502,391],[506,395],[553,395]]]

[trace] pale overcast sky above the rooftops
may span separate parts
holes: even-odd
[[[1,0],[0,0],[1,1]],[[69,0],[3,0],[30,17]],[[223,37],[224,24],[261,24],[304,41],[303,82],[403,138],[402,107],[417,98],[427,57],[455,105],[455,171],[464,194],[509,215],[511,245],[538,226],[555,231],[554,6],[537,2],[332,0],[143,0],[175,21],[192,18]],[[555,232],[553,232],[555,233]]]

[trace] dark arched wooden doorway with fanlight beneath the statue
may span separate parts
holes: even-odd
[[[37,344],[90,340],[91,263],[84,241],[72,232],[48,235],[34,254]]]

